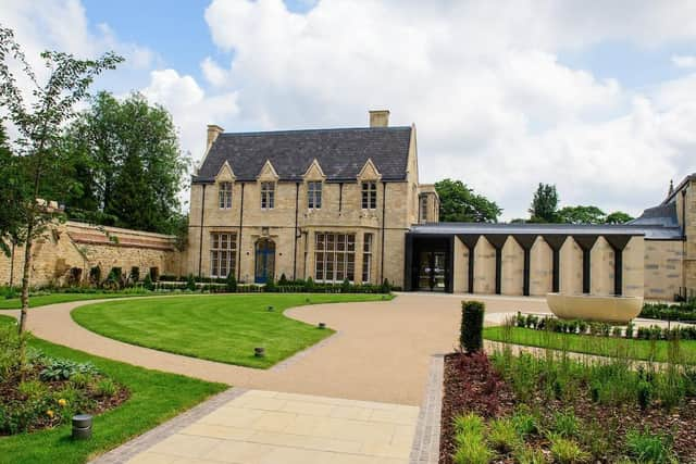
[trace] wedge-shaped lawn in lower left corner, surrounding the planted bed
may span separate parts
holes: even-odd
[[[0,316],[0,326],[8,324],[14,324],[14,319]],[[0,463],[84,463],[227,388],[222,384],[109,361],[37,338],[30,338],[29,344],[50,356],[91,362],[125,385],[132,396],[121,406],[95,417],[90,440],[71,440],[70,425],[0,438]]]

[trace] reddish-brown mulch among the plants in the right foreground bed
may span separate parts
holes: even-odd
[[[452,463],[455,452],[453,417],[474,412],[486,418],[509,415],[520,402],[511,387],[492,366],[485,354],[467,355],[452,353],[445,356],[445,380],[442,414],[440,464]],[[542,412],[544,422],[550,422],[559,411],[572,409],[574,414],[589,427],[601,430],[606,440],[606,456],[600,462],[611,463],[623,446],[623,437],[629,429],[644,429],[651,432],[671,435],[673,450],[680,462],[696,462],[696,398],[668,412],[659,405],[641,411],[637,405],[623,404],[608,406],[595,403],[589,391],[580,391],[571,400],[549,400],[538,392],[526,404]],[[545,446],[543,437],[536,437],[530,444]],[[500,456],[496,463],[513,463],[510,456]]]

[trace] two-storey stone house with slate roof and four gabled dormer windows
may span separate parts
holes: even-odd
[[[418,179],[415,127],[224,134],[208,127],[192,178],[188,269],[263,284],[403,280],[403,237],[437,222]]]

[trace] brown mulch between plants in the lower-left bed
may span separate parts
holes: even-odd
[[[25,380],[36,380],[39,378],[39,373],[44,368],[40,364],[35,364],[30,366],[24,373]],[[95,376],[95,381],[104,378],[101,375]],[[10,411],[13,404],[22,404],[28,401],[28,398],[18,390],[20,383],[22,378],[20,375],[14,375],[10,378],[0,381],[0,409],[8,409]],[[70,380],[52,380],[52,381],[41,381],[41,384],[46,387],[47,392],[44,394],[44,398],[52,398],[57,396],[57,393],[63,391],[66,387],[71,386]],[[129,397],[130,392],[127,388],[122,385],[115,384],[116,390],[113,396],[101,396],[97,390],[95,385],[86,386],[79,391],[84,394],[84,406],[79,407],[75,413],[80,414],[91,414],[97,415],[109,410],[112,410],[123,402],[125,402]],[[37,431],[46,428],[52,428],[61,425],[63,422],[70,422],[70,417],[62,418],[61,417],[61,406],[53,401],[47,402],[47,409],[54,411],[53,416],[49,416],[46,413],[36,414],[28,423],[26,430],[23,431]],[[63,422],[62,422],[63,421]],[[3,430],[0,428],[0,437],[9,436],[8,430]]]

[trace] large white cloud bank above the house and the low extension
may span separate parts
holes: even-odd
[[[507,218],[525,215],[538,181],[556,183],[564,204],[635,214],[694,170],[696,81],[639,95],[558,55],[694,39],[694,8],[324,1],[299,15],[281,0],[215,0],[206,18],[234,59],[207,75],[238,89],[239,122],[254,129],[364,125],[368,109],[389,108],[394,123],[418,125],[424,180],[461,178]]]

